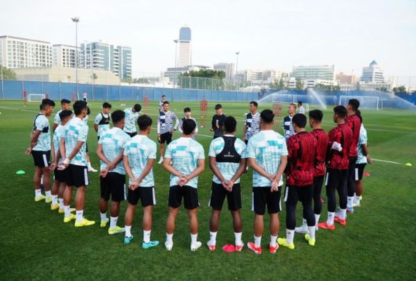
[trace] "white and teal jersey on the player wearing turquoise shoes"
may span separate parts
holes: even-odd
[[[124,155],[128,157],[130,169],[135,178],[139,178],[149,159],[156,159],[156,143],[145,135],[135,135],[125,144]],[[131,183],[132,180],[129,179]],[[140,187],[154,187],[153,168],[148,175],[141,180]]]

